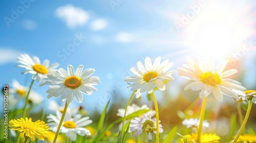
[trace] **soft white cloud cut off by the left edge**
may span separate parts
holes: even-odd
[[[5,64],[9,62],[14,62],[16,61],[17,57],[21,54],[18,51],[7,49],[7,48],[0,48],[0,64]]]

